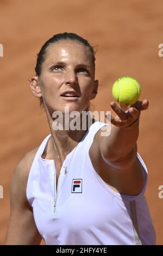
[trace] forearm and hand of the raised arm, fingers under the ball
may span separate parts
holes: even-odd
[[[128,167],[135,161],[140,113],[148,108],[148,100],[137,101],[134,105],[126,107],[126,111],[124,106],[120,105],[120,108],[115,102],[111,102],[110,106],[117,116],[111,117],[111,136],[101,139],[101,154],[115,167]]]

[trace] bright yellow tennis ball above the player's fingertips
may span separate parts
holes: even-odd
[[[139,99],[140,94],[140,84],[128,76],[119,78],[112,86],[114,99],[122,105],[134,104]]]

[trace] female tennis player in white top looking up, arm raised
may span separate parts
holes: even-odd
[[[154,245],[144,196],[147,168],[136,144],[148,100],[126,109],[111,102],[116,117],[111,116],[108,136],[102,136],[108,123],[83,120],[98,80],[92,46],[74,33],[46,41],[35,71],[30,88],[51,133],[16,166],[4,244],[39,245],[43,238],[46,245]],[[56,113],[67,117],[65,108],[68,125],[76,111],[80,128],[84,123],[86,129],[54,129]]]

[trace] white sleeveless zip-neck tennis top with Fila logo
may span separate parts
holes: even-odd
[[[27,199],[36,227],[47,245],[154,245],[155,231],[146,199],[147,168],[137,153],[146,184],[137,196],[113,191],[92,166],[89,149],[95,121],[66,156],[56,188],[54,160],[42,159],[48,135],[35,155],[27,182]]]

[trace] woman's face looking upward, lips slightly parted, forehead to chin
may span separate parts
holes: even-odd
[[[51,114],[54,111],[64,113],[65,107],[69,107],[69,112],[84,111],[95,98],[98,88],[89,50],[71,40],[55,42],[47,48],[37,81]],[[66,92],[72,92],[76,97],[64,96]]]

